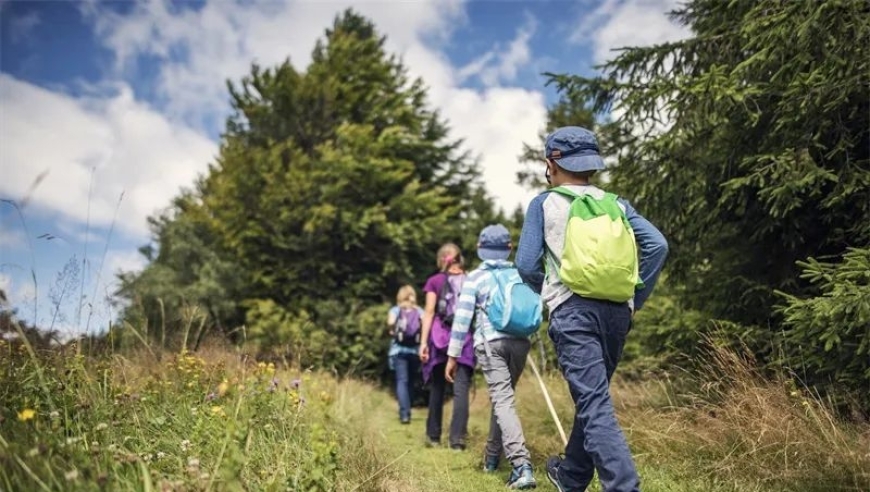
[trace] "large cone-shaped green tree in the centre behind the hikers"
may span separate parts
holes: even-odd
[[[288,60],[229,83],[216,163],[152,219],[150,264],[122,277],[131,325],[163,320],[178,337],[184,310],[199,308],[264,352],[378,370],[373,306],[422,284],[443,242],[470,248],[502,219],[422,81],[384,42],[348,11],[304,72]]]

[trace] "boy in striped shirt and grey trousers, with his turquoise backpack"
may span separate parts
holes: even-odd
[[[531,347],[529,335],[541,322],[541,301],[528,286],[522,285],[519,273],[508,261],[511,247],[510,233],[501,224],[487,226],[480,232],[477,256],[483,263],[462,285],[447,349],[446,378],[453,381],[464,341],[473,328],[475,354],[492,401],[484,471],[496,471],[503,453],[512,466],[508,487],[532,489],[537,482],[517,415],[514,390],[526,366]],[[521,289],[527,291],[525,298]],[[506,299],[513,302],[505,302]]]

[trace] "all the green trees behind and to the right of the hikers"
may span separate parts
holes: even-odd
[[[690,37],[622,49],[597,77],[549,74],[548,126],[594,128],[603,179],[671,244],[630,352],[692,366],[727,343],[866,411],[870,7],[692,0],[671,15]],[[120,330],[220,333],[376,375],[387,302],[438,245],[519,226],[384,41],[347,11],[306,70],[228,83],[219,156],[149,219],[147,266],[120,277]],[[537,160],[527,144],[518,158]],[[537,166],[518,179],[543,189]]]

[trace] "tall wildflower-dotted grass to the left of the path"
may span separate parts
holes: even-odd
[[[227,348],[77,352],[0,340],[0,489],[373,491],[389,478],[345,424],[372,394],[361,383]]]

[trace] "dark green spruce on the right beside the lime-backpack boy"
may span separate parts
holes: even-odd
[[[610,185],[668,238],[668,280],[689,310],[673,315],[721,320],[717,330],[766,362],[780,330],[789,364],[826,343],[854,352],[837,340],[863,325],[838,314],[845,298],[801,276],[799,261],[870,244],[870,8],[693,0],[672,17],[692,36],[622,50],[598,78],[552,82],[575,104],[618,116]],[[777,292],[794,296],[791,308],[776,309]],[[798,305],[832,324],[813,334],[820,328]],[[866,392],[855,376],[868,358],[856,359],[799,367],[813,382],[836,373]]]

